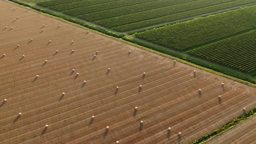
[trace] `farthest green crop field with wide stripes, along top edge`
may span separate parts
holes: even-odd
[[[115,31],[127,32],[255,2],[256,0],[50,0],[38,4]]]

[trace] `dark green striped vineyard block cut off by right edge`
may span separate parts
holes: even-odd
[[[256,30],[188,51],[243,72],[256,70]]]

